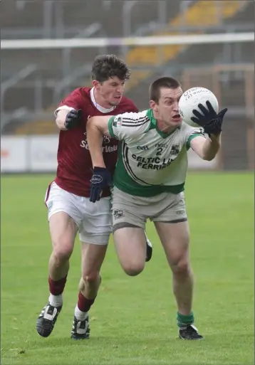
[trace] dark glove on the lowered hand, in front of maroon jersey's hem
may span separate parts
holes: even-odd
[[[90,201],[95,203],[101,198],[103,189],[112,185],[112,176],[105,167],[94,167],[93,176],[90,180]]]

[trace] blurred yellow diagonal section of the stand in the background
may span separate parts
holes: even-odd
[[[220,20],[225,20],[234,16],[240,9],[244,8],[247,1],[221,1],[220,11],[221,17],[219,17],[219,1],[197,1],[191,6],[187,7],[187,10],[182,14],[177,14],[175,18],[170,19],[169,26],[197,26],[199,24],[200,29],[197,33],[202,33],[207,30],[209,26],[216,26]],[[204,27],[204,30],[203,30]],[[160,32],[155,33],[157,36],[172,36],[177,32]],[[148,46],[148,47],[136,47],[127,54],[127,63],[132,68],[133,65],[145,64],[145,65],[157,65],[160,66],[164,63],[174,61],[178,53],[184,51],[187,46],[175,45],[175,46]],[[209,45],[207,52],[204,47],[200,46],[199,52],[196,53],[197,59],[194,63],[201,63],[201,56],[206,53],[207,57],[212,61],[219,53],[217,48],[222,48],[221,45]],[[189,53],[186,54],[186,58],[189,59]],[[143,79],[153,75],[154,70],[135,71],[133,78],[127,85],[127,90],[130,90],[134,86],[138,85]]]

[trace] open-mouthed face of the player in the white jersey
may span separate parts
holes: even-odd
[[[177,127],[182,123],[179,115],[179,99],[182,96],[182,88],[160,90],[160,100],[152,107],[156,119],[162,120],[169,127]]]

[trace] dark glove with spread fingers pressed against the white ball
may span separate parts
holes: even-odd
[[[214,108],[212,107],[212,104],[208,100],[206,104],[208,109],[202,104],[198,105],[203,114],[194,109],[192,112],[195,117],[190,119],[192,122],[197,123],[197,125],[201,125],[201,127],[204,128],[205,133],[209,135],[218,135],[220,132],[222,132],[222,122],[224,115],[227,112],[227,107],[217,114],[217,112],[215,112]]]

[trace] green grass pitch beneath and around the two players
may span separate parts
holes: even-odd
[[[251,174],[189,174],[195,324],[202,342],[177,339],[171,273],[152,224],[154,255],[128,277],[111,242],[90,312],[91,338],[70,339],[80,248],[51,337],[35,329],[48,299],[50,236],[43,203],[52,176],[1,181],[1,364],[254,364],[254,181]]]

